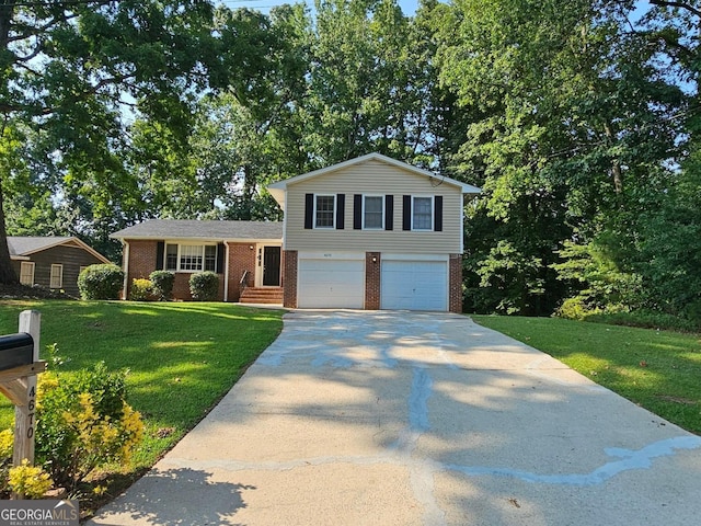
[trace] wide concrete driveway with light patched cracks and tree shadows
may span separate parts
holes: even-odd
[[[173,401],[177,403],[177,401]],[[297,311],[89,524],[698,524],[701,437],[469,318]]]

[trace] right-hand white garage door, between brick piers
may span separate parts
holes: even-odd
[[[380,308],[448,310],[445,261],[382,261]]]

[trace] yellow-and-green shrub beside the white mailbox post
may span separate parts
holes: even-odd
[[[129,407],[126,373],[104,363],[76,375],[45,373],[36,404],[36,462],[54,480],[74,489],[96,468],[127,464],[141,442],[143,424]]]

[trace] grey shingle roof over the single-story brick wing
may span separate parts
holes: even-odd
[[[149,219],[114,232],[110,237],[113,239],[198,239],[203,241],[280,240],[283,239],[283,222]]]

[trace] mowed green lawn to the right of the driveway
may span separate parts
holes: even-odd
[[[558,318],[471,316],[701,434],[701,335]]]

